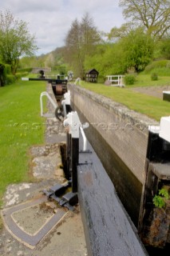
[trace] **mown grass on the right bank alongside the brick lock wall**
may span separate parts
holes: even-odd
[[[148,78],[148,76],[141,75],[138,79],[139,82],[136,82],[135,86],[154,86],[154,83],[150,82],[151,79],[150,77]],[[170,77],[163,78],[160,85],[170,85]],[[121,104],[128,106],[129,109],[145,114],[156,121],[160,121],[162,116],[170,115],[169,102],[130,90],[133,86],[121,88],[88,82],[81,82],[81,86],[88,90],[93,90],[97,94],[102,94],[105,97],[111,98],[115,102],[120,102]]]

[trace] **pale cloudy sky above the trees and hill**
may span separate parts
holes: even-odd
[[[110,32],[125,22],[118,0],[0,0],[0,11],[10,10],[18,20],[27,22],[39,50],[47,54],[65,45],[72,22],[89,13],[97,30]]]

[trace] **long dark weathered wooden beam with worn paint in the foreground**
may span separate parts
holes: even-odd
[[[88,255],[148,255],[117,197],[113,182],[89,142],[88,150],[92,153],[79,154],[77,166],[78,197]]]

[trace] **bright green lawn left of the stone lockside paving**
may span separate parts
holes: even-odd
[[[45,82],[16,82],[0,87],[0,206],[6,186],[29,182],[30,146],[44,142],[40,94]]]

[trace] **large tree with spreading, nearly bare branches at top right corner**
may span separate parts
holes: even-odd
[[[120,0],[125,18],[144,26],[148,34],[162,38],[170,29],[169,0]]]

